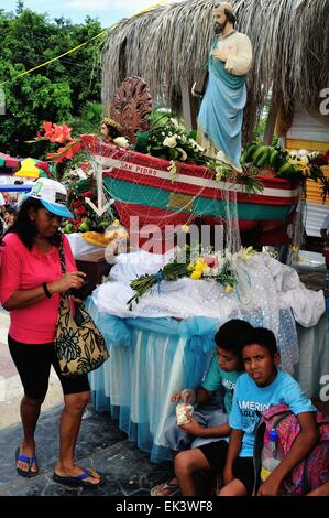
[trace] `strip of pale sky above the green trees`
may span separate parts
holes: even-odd
[[[83,22],[89,14],[98,18],[103,28],[156,3],[157,0],[24,0],[25,8],[46,12],[50,18],[65,17]],[[0,0],[0,9],[14,11],[15,8],[17,0]]]

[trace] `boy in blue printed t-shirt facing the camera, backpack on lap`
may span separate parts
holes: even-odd
[[[245,374],[240,376],[229,418],[229,451],[219,496],[252,495],[254,486],[253,445],[255,428],[267,408],[286,403],[297,416],[300,433],[288,454],[261,485],[259,495],[277,495],[290,471],[318,440],[316,408],[292,376],[277,369],[279,355],[272,331],[255,328],[242,347]]]

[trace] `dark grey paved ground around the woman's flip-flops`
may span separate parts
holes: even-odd
[[[110,420],[109,412],[91,409],[83,419],[76,458],[84,467],[102,474],[101,487],[70,487],[52,479],[58,452],[58,423],[62,407],[41,414],[36,428],[36,456],[40,474],[24,478],[15,471],[15,450],[22,439],[21,425],[0,431],[0,496],[150,496],[150,489],[172,475],[167,463],[153,464],[150,454],[127,441]]]

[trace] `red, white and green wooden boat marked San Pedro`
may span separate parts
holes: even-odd
[[[172,179],[166,160],[108,144],[96,136],[83,136],[81,142],[102,166],[105,188],[114,198],[125,228],[133,216],[139,229],[157,225],[163,236],[166,226],[222,224],[227,201],[232,202],[232,193],[237,193],[244,245],[289,242],[287,227],[298,203],[297,182],[260,176],[263,192],[248,194],[244,185],[218,182],[216,173],[204,166],[177,163],[177,174]],[[140,245],[142,241],[141,237]]]

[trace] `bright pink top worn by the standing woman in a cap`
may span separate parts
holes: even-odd
[[[3,304],[17,290],[31,290],[44,282],[61,279],[59,250],[53,247],[44,253],[35,247],[30,251],[17,234],[7,234],[1,247],[0,302]],[[76,263],[69,242],[63,240],[67,271],[75,271]],[[58,316],[59,293],[35,304],[10,311],[9,334],[24,344],[54,342]]]

